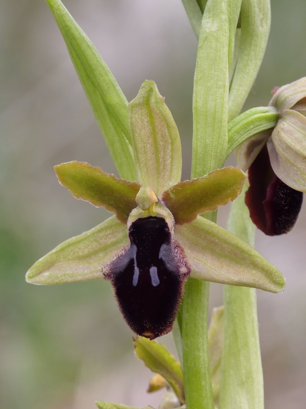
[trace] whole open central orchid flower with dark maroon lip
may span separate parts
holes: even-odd
[[[172,330],[190,276],[283,290],[285,279],[251,246],[200,215],[234,200],[245,173],[217,169],[180,182],[178,129],[153,81],[129,104],[137,181],[84,162],[55,166],[76,198],[115,213],[38,260],[26,279],[60,284],[106,278],[130,328],[154,339]]]

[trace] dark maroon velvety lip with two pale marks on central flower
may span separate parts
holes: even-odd
[[[106,267],[117,302],[129,327],[154,339],[172,330],[190,268],[162,217],[135,220],[130,246]]]

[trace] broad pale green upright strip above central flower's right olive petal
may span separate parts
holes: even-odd
[[[193,90],[191,177],[222,168],[227,149],[228,4],[206,4],[197,51]]]

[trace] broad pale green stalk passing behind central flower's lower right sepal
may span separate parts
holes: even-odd
[[[228,230],[254,245],[255,226],[244,203],[232,203]],[[224,346],[219,409],[264,409],[264,382],[254,288],[224,286]]]

